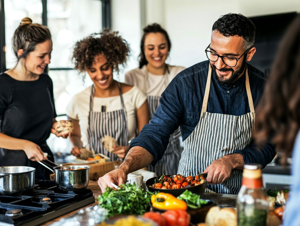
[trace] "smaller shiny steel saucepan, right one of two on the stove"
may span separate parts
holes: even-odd
[[[87,188],[89,168],[84,165],[54,167],[56,186],[63,191],[79,191]]]

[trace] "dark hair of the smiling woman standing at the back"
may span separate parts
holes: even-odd
[[[139,68],[142,68],[144,65],[148,64],[148,61],[146,60],[146,57],[145,57],[145,38],[146,38],[146,35],[148,35],[149,33],[162,33],[167,40],[169,52],[171,50],[171,41],[170,41],[169,35],[166,32],[166,30],[164,30],[159,24],[157,24],[157,23],[150,24],[143,29],[143,32],[144,32],[144,34],[143,34],[142,40],[141,40],[141,53],[139,56],[139,64],[140,64]]]

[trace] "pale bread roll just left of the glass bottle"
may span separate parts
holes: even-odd
[[[237,226],[237,215],[233,208],[211,207],[205,217],[208,226]]]

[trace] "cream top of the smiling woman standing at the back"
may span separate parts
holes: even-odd
[[[185,68],[181,66],[168,65],[170,73],[166,75],[154,75],[148,72],[148,80],[146,84],[147,96],[161,96],[164,90],[167,88],[165,83],[165,76],[167,76],[167,84],[169,84],[173,78]],[[142,68],[136,68],[128,71],[125,74],[125,83],[131,86],[137,86],[144,91],[145,75],[147,73],[146,65]]]

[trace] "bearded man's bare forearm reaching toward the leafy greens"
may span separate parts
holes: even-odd
[[[153,156],[145,148],[134,146],[129,150],[119,168],[128,174],[148,166],[153,159]]]

